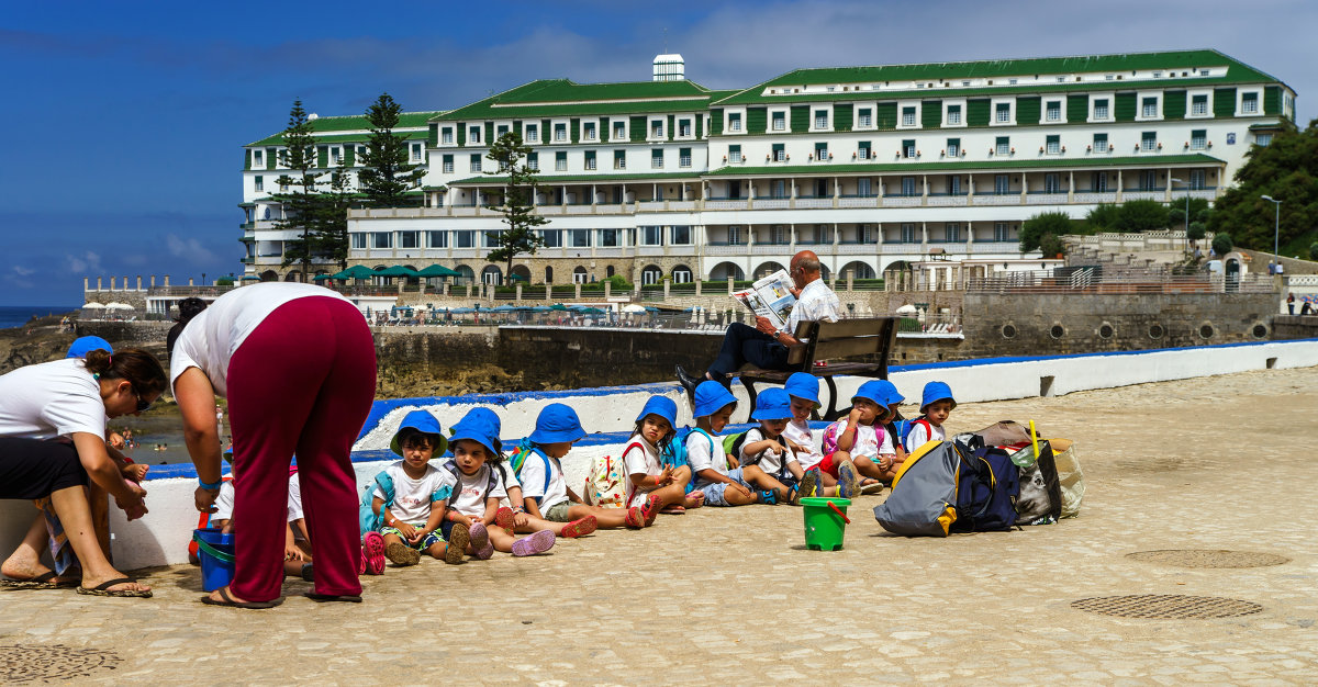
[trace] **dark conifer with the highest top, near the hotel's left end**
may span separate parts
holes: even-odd
[[[389,93],[381,93],[366,108],[370,138],[361,158],[362,167],[357,172],[358,188],[366,196],[366,207],[406,208],[419,204],[409,199],[406,192],[420,186],[426,170],[407,162],[407,141],[394,134],[401,112],[402,105],[394,103]]]

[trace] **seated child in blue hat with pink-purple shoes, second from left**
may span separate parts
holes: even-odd
[[[471,540],[467,551],[481,561],[489,559],[496,550],[517,557],[548,551],[554,547],[554,532],[539,530],[518,540],[513,534],[513,511],[500,505],[500,500],[507,496],[498,470],[502,444],[498,441],[498,426],[482,417],[488,412],[477,408],[453,425],[453,436],[448,440],[453,458],[444,466],[456,484],[442,532],[447,538],[457,524],[467,525]]]

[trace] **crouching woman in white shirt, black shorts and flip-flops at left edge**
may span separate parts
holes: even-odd
[[[161,363],[149,353],[92,350],[20,367],[0,376],[0,499],[50,499],[82,563],[79,594],[150,596],[115,570],[96,540],[84,487],[115,497],[129,520],[146,513],[146,491],[124,479],[105,449],[105,419],[137,415],[165,390]],[[30,534],[30,532],[29,532]],[[41,565],[45,537],[28,537],[0,566],[7,587],[54,587]]]

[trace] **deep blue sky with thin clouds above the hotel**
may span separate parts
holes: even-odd
[[[1318,114],[1318,3],[9,3],[0,16],[0,305],[82,278],[239,272],[241,146],[387,91],[447,109],[538,78],[638,80],[681,53],[710,88],[797,67],[1214,47]],[[377,13],[376,8],[389,8]]]

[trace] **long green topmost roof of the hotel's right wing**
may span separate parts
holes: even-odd
[[[1151,79],[1136,82],[1069,82],[1043,83],[1014,87],[945,87],[941,82],[960,79],[1070,75],[1079,72],[1122,72],[1133,70],[1190,70],[1205,67],[1227,67],[1226,76],[1198,76],[1194,79]],[[789,88],[801,86],[829,86],[854,83],[925,82],[936,83],[934,88],[909,88],[903,91],[834,91],[826,93],[762,95],[768,88]],[[929,62],[920,64],[879,64],[870,67],[821,67],[793,70],[775,76],[764,83],[739,91],[735,96],[716,101],[716,105],[766,104],[766,103],[808,103],[826,100],[892,100],[899,97],[942,97],[1012,95],[1020,92],[1062,92],[1095,91],[1106,88],[1139,89],[1174,86],[1195,87],[1226,83],[1264,83],[1278,79],[1264,74],[1243,62],[1217,50],[1182,50],[1168,53],[1124,53],[1111,55],[1075,55],[1058,58],[990,59],[977,62]]]

